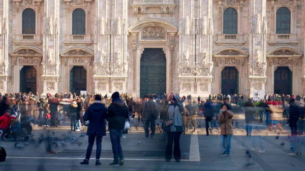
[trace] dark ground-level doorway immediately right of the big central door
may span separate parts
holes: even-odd
[[[221,93],[238,94],[238,71],[234,66],[226,66],[221,72]]]

